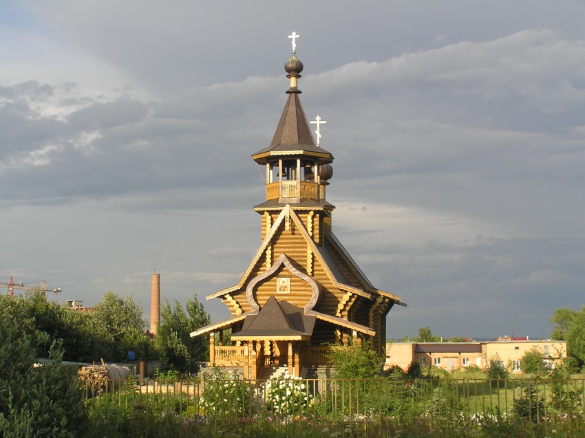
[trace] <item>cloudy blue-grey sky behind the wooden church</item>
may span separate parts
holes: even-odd
[[[0,283],[235,285],[291,32],[332,226],[387,336],[546,338],[585,285],[584,1],[0,2]],[[17,291],[21,293],[20,291]],[[5,293],[5,292],[1,292]]]

